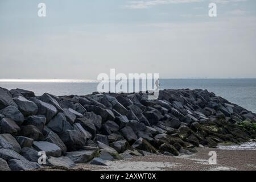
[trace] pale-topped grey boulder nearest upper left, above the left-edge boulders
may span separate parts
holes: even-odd
[[[25,97],[18,96],[13,100],[24,116],[35,115],[38,112],[38,106],[32,101],[28,101]]]

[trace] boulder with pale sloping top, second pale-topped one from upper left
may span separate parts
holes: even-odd
[[[30,101],[35,102],[35,104],[38,106],[37,115],[44,115],[46,117],[46,122],[49,122],[52,117],[57,114],[56,107],[51,104],[40,101],[34,97],[30,98]]]

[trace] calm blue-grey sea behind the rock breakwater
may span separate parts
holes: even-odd
[[[62,79],[0,79],[0,87],[27,89],[41,95],[45,92],[64,96],[86,95],[97,91],[96,80]],[[160,89],[207,89],[217,96],[245,107],[256,113],[256,79],[165,79],[160,80]]]

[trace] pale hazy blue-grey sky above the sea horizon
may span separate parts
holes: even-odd
[[[0,78],[256,78],[255,47],[255,0],[0,1]]]

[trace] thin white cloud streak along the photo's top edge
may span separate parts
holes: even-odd
[[[245,2],[247,0],[150,0],[150,1],[129,1],[123,7],[125,9],[148,9],[156,5],[168,5],[178,3],[198,3],[198,2],[215,2],[215,3],[231,3],[231,2]]]

